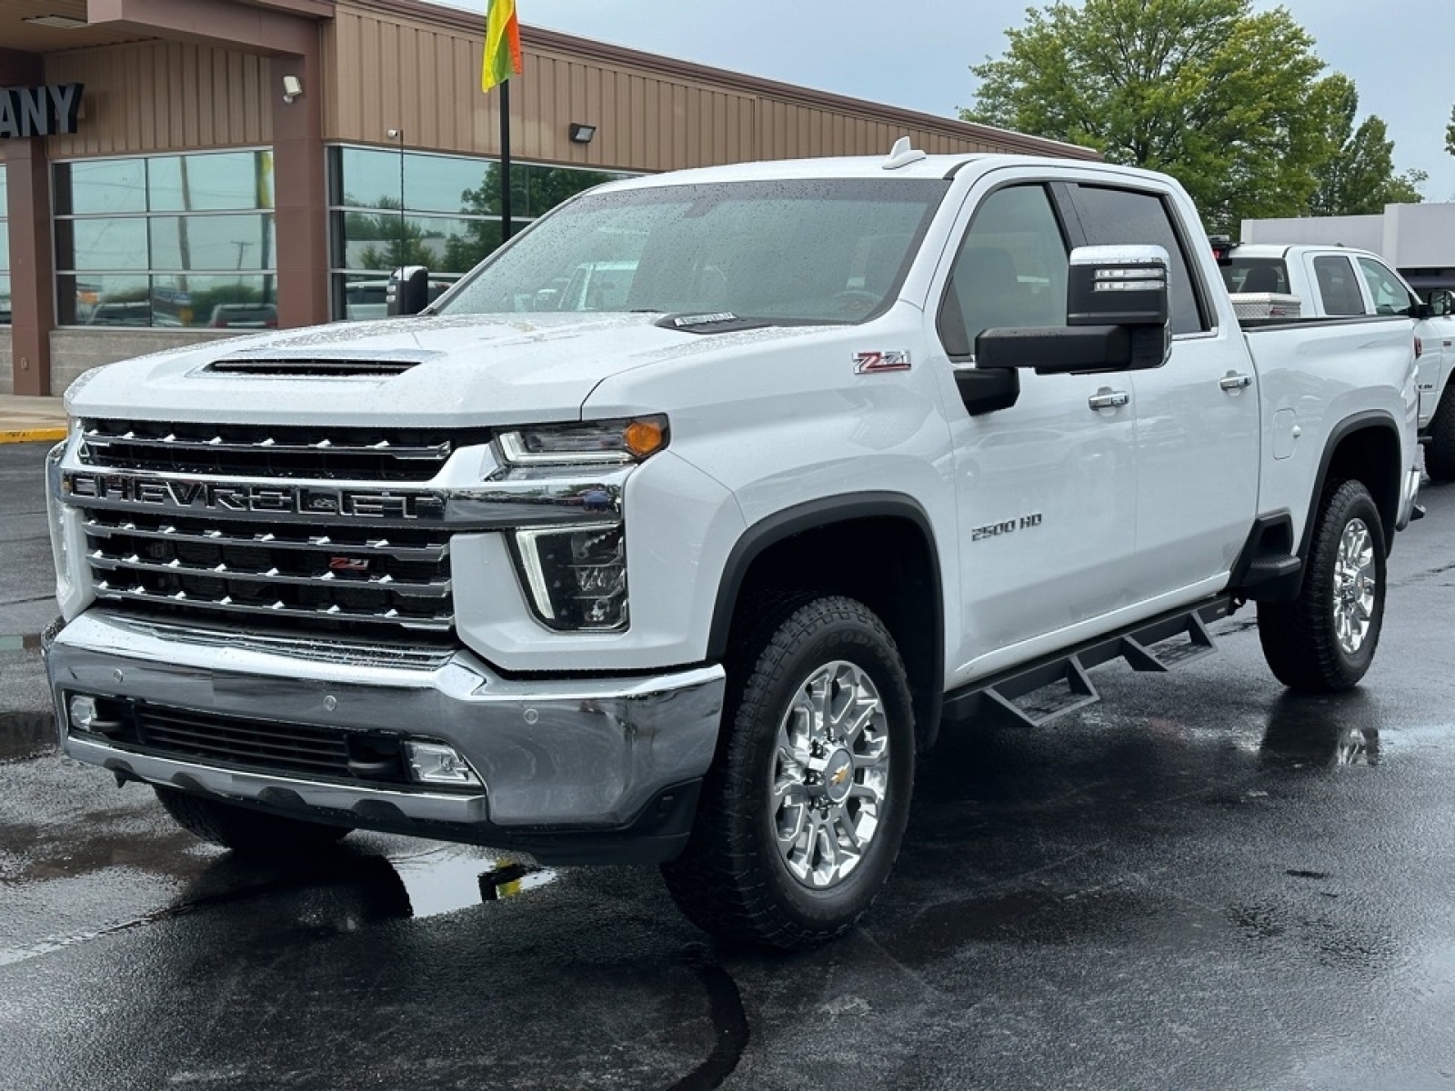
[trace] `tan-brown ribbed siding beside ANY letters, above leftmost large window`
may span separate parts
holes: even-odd
[[[137,42],[45,58],[49,83],[86,84],[80,132],[51,159],[269,144],[268,58],[182,42]]]

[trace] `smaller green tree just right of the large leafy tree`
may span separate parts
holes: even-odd
[[[1346,84],[1337,95],[1331,129],[1339,148],[1320,172],[1308,211],[1314,215],[1376,215],[1385,205],[1423,201],[1419,188],[1427,175],[1423,170],[1394,173],[1394,141],[1387,137],[1384,119],[1371,113],[1356,129],[1359,93],[1346,77],[1328,77],[1330,83],[1336,80]]]

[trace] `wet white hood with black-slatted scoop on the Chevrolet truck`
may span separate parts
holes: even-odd
[[[218,423],[575,420],[602,380],[744,336],[662,329],[659,317],[420,316],[208,340],[89,371],[65,406],[76,416]]]

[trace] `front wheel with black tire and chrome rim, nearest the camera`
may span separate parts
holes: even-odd
[[[821,688],[810,690],[815,679]],[[778,736],[783,730],[794,738],[799,727],[816,723],[790,719],[793,704],[803,707],[815,694],[841,710],[844,701],[863,698],[867,714],[858,722],[866,726],[853,733],[857,742],[845,745],[850,733],[829,732],[819,749],[805,745],[794,752],[813,756],[799,762],[778,746]],[[678,906],[713,935],[783,950],[812,947],[848,930],[883,889],[899,854],[914,786],[914,739],[904,660],[883,623],[850,598],[777,599],[732,640],[717,758],[687,850],[662,866]],[[872,768],[877,754],[888,755],[888,770]],[[821,772],[813,772],[815,764]],[[780,775],[780,784],[800,783],[776,803]],[[829,818],[856,835],[874,820],[860,855],[847,848],[838,826],[822,825]],[[797,836],[780,841],[780,822],[797,823]],[[825,836],[813,838],[815,828]],[[812,873],[812,863],[825,857],[835,863],[824,864],[822,884],[792,870]],[[856,863],[835,877],[837,861],[848,860]]]

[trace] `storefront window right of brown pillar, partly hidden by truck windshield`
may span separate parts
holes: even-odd
[[[495,160],[332,148],[333,316],[383,317],[383,285],[400,265],[428,266],[431,292],[438,294],[487,257],[502,237],[499,172]],[[581,191],[617,177],[629,175],[515,163],[514,231]]]

